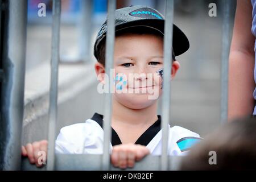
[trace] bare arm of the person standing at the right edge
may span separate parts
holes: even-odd
[[[255,35],[256,1],[237,1],[229,55],[228,118],[256,115]]]

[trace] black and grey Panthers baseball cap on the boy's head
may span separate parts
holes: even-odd
[[[129,6],[115,10],[115,31],[122,31],[126,28],[133,27],[148,27],[158,30],[164,35],[164,16],[157,10],[147,6]],[[106,31],[108,30],[107,19],[100,27],[97,34],[96,42],[94,43],[94,56],[96,59],[98,46],[100,42],[106,38]],[[146,29],[145,29],[146,30]],[[175,24],[173,24],[172,37],[173,54],[179,56],[186,52],[189,48],[189,41],[187,36]]]

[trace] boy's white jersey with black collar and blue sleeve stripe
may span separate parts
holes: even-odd
[[[102,129],[103,116],[95,113],[91,119],[85,123],[65,126],[60,130],[55,143],[55,150],[61,154],[102,154],[104,131]],[[135,144],[142,144],[150,150],[152,155],[161,155],[162,151],[162,130],[160,128],[161,117],[150,126],[138,138]],[[201,140],[199,134],[180,126],[169,128],[169,155],[183,155],[189,148]],[[113,146],[122,144],[118,134],[112,129],[112,141],[110,150]]]

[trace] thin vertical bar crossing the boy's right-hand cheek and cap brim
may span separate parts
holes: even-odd
[[[171,106],[171,66],[172,66],[172,30],[174,18],[174,0],[166,0],[166,20],[164,22],[164,76],[162,103],[162,156],[161,169],[168,169],[168,123],[170,122]]]

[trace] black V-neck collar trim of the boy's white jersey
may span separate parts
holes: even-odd
[[[98,125],[103,129],[103,115],[94,113],[92,120],[96,121]],[[156,134],[161,130],[161,116],[158,115],[158,120],[151,125],[142,135],[137,139],[135,144],[141,144],[143,146],[147,146],[148,143],[155,137]],[[112,146],[122,144],[118,134],[112,128]]]

